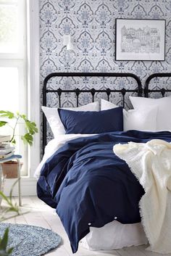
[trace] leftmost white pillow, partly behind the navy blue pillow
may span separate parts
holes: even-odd
[[[64,125],[60,120],[58,108],[42,106],[41,109],[43,110],[44,115],[46,115],[51,131],[54,133],[54,138],[57,138],[59,134],[65,134]],[[99,102],[89,103],[81,107],[64,107],[62,109],[73,111],[99,111]]]

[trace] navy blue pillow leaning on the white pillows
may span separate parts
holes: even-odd
[[[99,112],[62,109],[59,109],[58,112],[67,134],[123,131],[122,107]]]

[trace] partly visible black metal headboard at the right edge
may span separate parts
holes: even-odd
[[[149,98],[149,93],[151,92],[160,92],[163,97],[167,91],[171,92],[171,85],[170,88],[149,89],[149,83],[154,78],[171,78],[171,73],[154,73],[152,75],[149,75],[149,78],[146,79],[145,86],[143,89],[143,93],[146,98]]]

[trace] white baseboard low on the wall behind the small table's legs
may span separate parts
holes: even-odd
[[[4,194],[9,196],[9,191],[16,181],[16,178],[7,178],[4,183]],[[36,178],[21,178],[21,194],[22,196],[36,196]],[[14,186],[12,196],[18,196],[18,184]]]

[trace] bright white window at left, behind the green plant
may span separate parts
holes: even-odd
[[[27,114],[26,0],[0,0],[0,109]],[[10,133],[11,130],[1,133]],[[24,132],[20,125],[18,133]],[[22,175],[28,175],[28,148],[17,141],[22,154]]]

